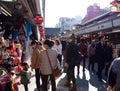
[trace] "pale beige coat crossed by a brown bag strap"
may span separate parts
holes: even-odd
[[[58,66],[58,61],[57,61],[57,51],[53,49],[48,49],[47,50],[50,62],[52,64],[52,68],[56,68]],[[41,52],[41,58],[42,58],[42,63],[40,66],[41,74],[43,75],[49,75],[52,74],[52,70],[49,64],[49,60],[46,54],[46,50]]]

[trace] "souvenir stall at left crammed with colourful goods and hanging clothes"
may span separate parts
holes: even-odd
[[[19,91],[20,78],[14,74],[22,70],[21,63],[27,60],[28,41],[37,39],[30,11],[23,5],[25,11],[20,11],[14,4],[21,8],[19,2],[0,1],[0,91]]]

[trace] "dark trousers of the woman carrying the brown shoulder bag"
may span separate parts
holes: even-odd
[[[50,77],[50,79],[49,79],[49,77]],[[51,81],[52,91],[56,91],[55,77],[52,74],[51,75],[41,75],[41,79],[42,79],[43,91],[48,91],[47,86],[48,86],[49,80]]]

